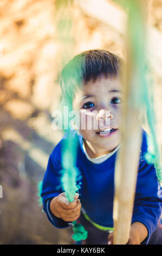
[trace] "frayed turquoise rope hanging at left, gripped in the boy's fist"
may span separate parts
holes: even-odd
[[[72,49],[74,47],[74,31],[73,31],[73,21],[72,15],[70,15],[70,8],[72,8],[73,0],[56,0],[57,7],[57,37],[63,45],[62,54],[62,64],[64,65],[67,60],[70,59],[72,54]],[[68,9],[69,8],[69,9]],[[72,9],[71,9],[72,11]],[[67,74],[67,80],[70,74]],[[63,102],[63,106],[68,106],[68,112],[72,110],[72,99],[66,99]],[[69,116],[69,115],[68,115]],[[66,117],[65,117],[66,118]],[[64,126],[63,120],[63,127]],[[69,130],[69,127],[64,128],[64,130]],[[80,184],[76,184],[79,180],[79,170],[76,168],[76,151],[77,151],[77,141],[75,138],[67,135],[67,139],[64,140],[62,148],[62,177],[61,184],[62,189],[66,194],[68,202],[74,201],[74,196],[79,190]],[[81,224],[76,224],[73,222],[74,235],[73,239],[75,241],[80,241],[86,239],[87,231]]]

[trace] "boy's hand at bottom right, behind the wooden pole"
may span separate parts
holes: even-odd
[[[127,245],[140,245],[140,243],[145,240],[147,235],[148,231],[145,225],[140,222],[134,222],[131,225]],[[108,245],[113,245],[113,233],[108,235]]]

